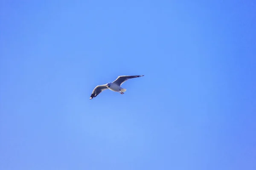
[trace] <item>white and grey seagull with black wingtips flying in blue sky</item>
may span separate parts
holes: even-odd
[[[119,92],[120,94],[124,94],[126,89],[120,87],[124,82],[126,82],[128,79],[133,79],[133,78],[143,77],[143,76],[144,75],[140,75],[140,76],[119,76],[113,82],[110,82],[110,83],[105,84],[105,85],[98,85],[98,86],[96,86],[96,88],[94,88],[93,93],[90,96],[90,99],[93,99],[93,97],[98,96],[102,91],[105,91],[107,89],[109,89],[111,91]]]

